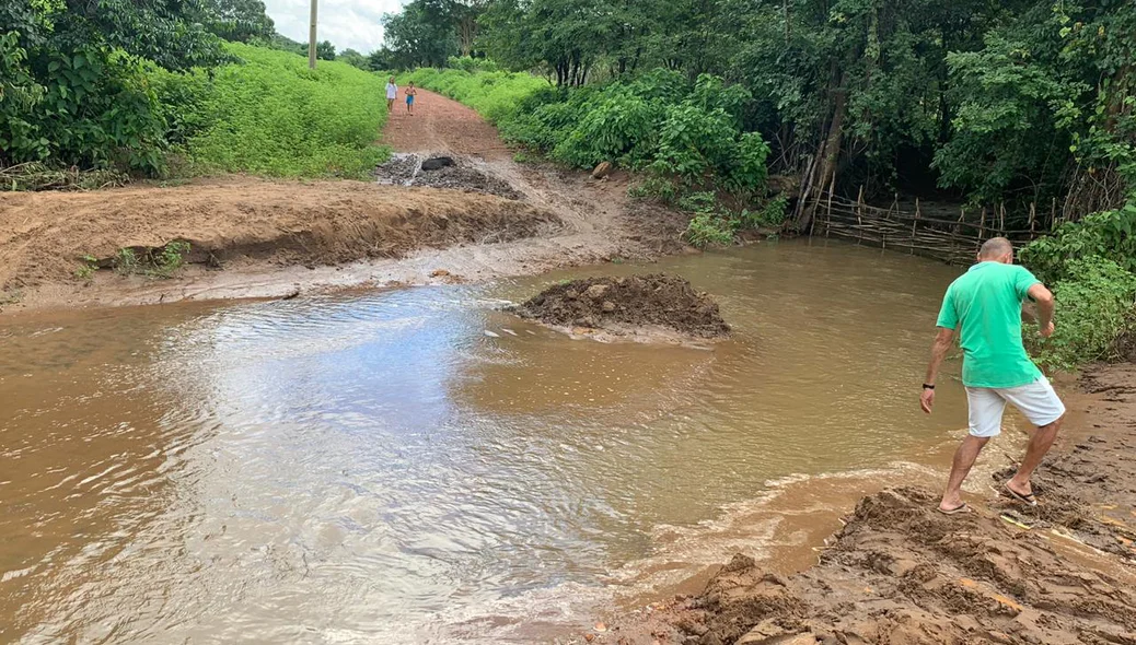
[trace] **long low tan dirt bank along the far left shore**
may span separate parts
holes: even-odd
[[[75,282],[83,258],[190,243],[189,262],[337,265],[423,248],[504,242],[558,228],[523,202],[359,182],[251,178],[169,189],[14,193],[0,198],[0,293]]]

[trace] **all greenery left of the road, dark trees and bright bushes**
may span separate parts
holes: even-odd
[[[170,159],[190,160],[178,171],[362,176],[383,157],[377,78],[235,41],[301,49],[260,0],[3,3],[0,169],[22,169],[5,187],[164,176]]]

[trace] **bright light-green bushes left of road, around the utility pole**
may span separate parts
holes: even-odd
[[[303,57],[240,43],[226,49],[241,62],[211,82],[200,72],[160,81],[198,171],[365,179],[390,154],[376,144],[386,120],[381,76],[345,62],[309,69]]]

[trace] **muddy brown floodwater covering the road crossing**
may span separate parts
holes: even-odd
[[[710,292],[733,337],[495,311],[643,270]],[[808,564],[842,504],[928,476],[966,425],[946,377],[917,409],[959,271],[780,242],[0,321],[0,642],[551,642],[735,551]]]

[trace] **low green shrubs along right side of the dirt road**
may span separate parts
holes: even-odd
[[[671,178],[688,190],[743,196],[765,187],[769,146],[760,134],[741,131],[753,99],[719,77],[690,83],[678,72],[652,69],[632,81],[563,90],[528,74],[461,66],[423,68],[406,79],[473,107],[508,141],[565,164],[649,168],[659,181],[644,189],[662,189]]]

